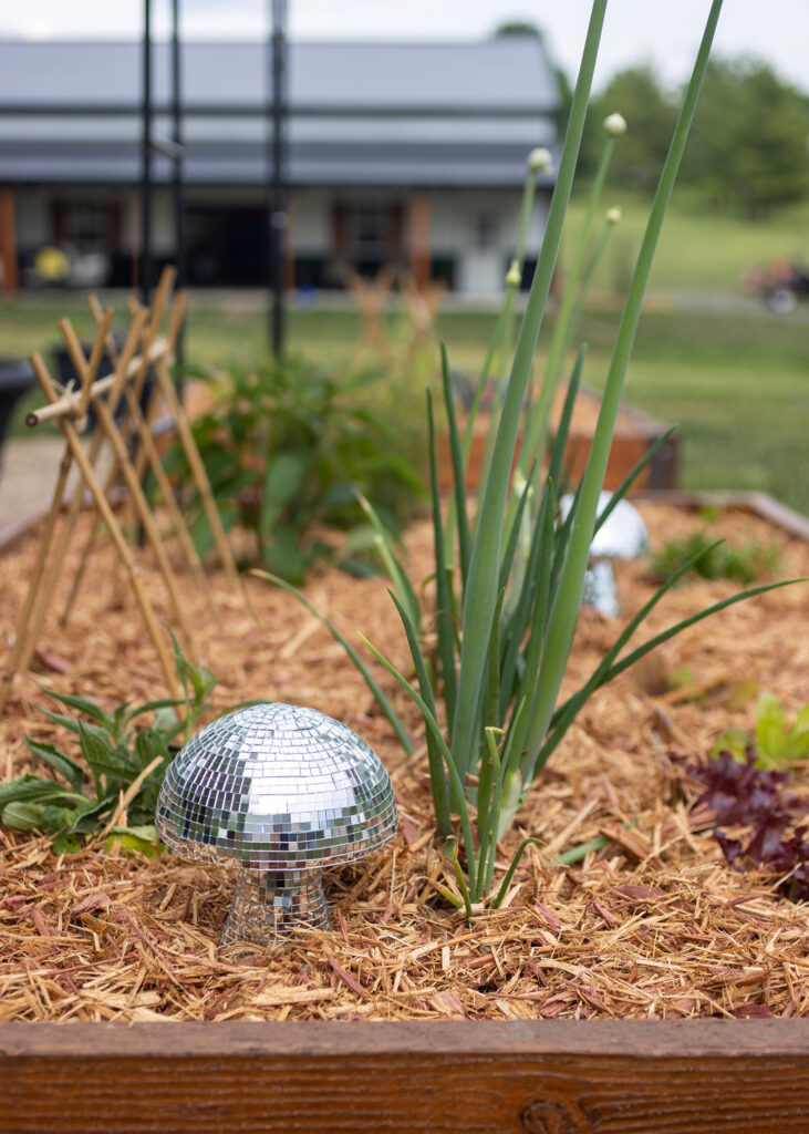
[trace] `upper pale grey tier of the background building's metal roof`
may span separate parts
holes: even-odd
[[[153,48],[154,98],[169,94],[169,45]],[[185,43],[184,102],[261,108],[267,98],[263,43]],[[480,43],[291,43],[293,112],[511,111],[559,105],[555,76],[539,40],[504,36]],[[108,42],[0,41],[0,107],[136,107],[140,45]]]

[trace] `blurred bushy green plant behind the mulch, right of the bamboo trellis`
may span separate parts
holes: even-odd
[[[303,582],[321,559],[368,569],[373,532],[358,491],[394,531],[416,510],[421,482],[400,433],[372,408],[371,388],[383,376],[338,374],[297,357],[235,370],[214,408],[194,423],[225,528],[248,528],[257,561],[284,578]],[[180,450],[173,465],[187,477]],[[191,527],[198,550],[207,551],[212,534],[194,505]],[[335,539],[347,531],[348,543]]]

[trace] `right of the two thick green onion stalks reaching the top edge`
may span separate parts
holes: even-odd
[[[638,253],[632,282],[621,316],[615,347],[613,350],[606,386],[598,414],[593,446],[587,469],[581,484],[580,506],[573,523],[570,545],[565,557],[564,569],[556,592],[551,619],[548,623],[546,650],[543,658],[543,679],[537,689],[531,721],[528,729],[527,754],[523,758],[523,779],[530,781],[534,776],[539,750],[551,722],[554,704],[562,685],[562,677],[568,663],[568,657],[573,642],[576,624],[581,604],[585,572],[589,558],[590,541],[596,522],[598,497],[604,483],[610,448],[615,429],[615,420],[623,392],[623,383],[629,365],[629,357],[635,342],[635,335],[640,319],[644,293],[652,271],[655,248],[659,239],[666,209],[671,198],[674,180],[685,147],[689,128],[697,107],[699,90],[702,84],[713,43],[716,23],[722,10],[722,0],[714,0],[708,15],[705,34],[697,53],[697,60],[691,79],[685,92],[680,118],[674,129],[674,136],[666,155],[659,185],[649,213],[644,239]]]

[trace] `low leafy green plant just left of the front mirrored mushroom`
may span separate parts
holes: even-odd
[[[157,853],[154,809],[165,769],[211,708],[216,684],[205,666],[197,669],[184,658],[176,640],[173,644],[182,699],[164,697],[138,705],[125,702],[108,712],[87,697],[44,691],[78,714],[43,710],[49,720],[76,738],[82,759],[26,736],[33,755],[68,786],[29,775],[0,784],[0,818],[6,827],[52,836],[57,854],[78,850],[83,839],[100,833],[108,837],[108,844],[118,841]],[[143,718],[150,713],[152,720],[145,723]],[[126,821],[119,826],[124,814]]]

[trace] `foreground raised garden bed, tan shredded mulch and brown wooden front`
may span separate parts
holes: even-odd
[[[640,507],[653,545],[693,527],[682,506]],[[809,545],[749,509],[729,508],[712,531],[736,543],[776,543],[780,574],[809,575]],[[412,528],[410,553],[424,574],[428,542],[427,525]],[[0,559],[6,638],[32,553],[23,540]],[[109,606],[111,566],[102,552],[71,627],[51,624],[42,671],[32,676],[110,703],[154,696],[160,675],[137,619]],[[147,557],[143,570],[168,617]],[[627,613],[649,593],[646,570],[630,564],[620,572]],[[216,611],[188,592],[203,658],[220,677],[218,704],[286,700],[350,723],[393,775],[398,841],[367,868],[332,878],[330,933],[261,955],[250,947],[218,955],[232,886],[225,873],[97,847],[57,860],[44,840],[2,832],[9,1129],[42,1129],[58,1115],[57,1128],[77,1131],[359,1131],[373,1118],[374,1128],[399,1131],[618,1132],[654,1129],[649,1116],[663,1112],[672,1131],[706,1122],[717,1131],[775,1128],[776,1120],[780,1129],[804,1128],[809,1025],[785,1017],[809,1013],[807,908],[780,899],[772,877],[729,870],[706,816],[695,813],[699,788],[673,758],[704,756],[729,725],[750,725],[751,677],[792,712],[809,700],[809,648],[799,631],[806,586],[733,607],[593,700],[518,822],[518,833],[537,833],[547,846],[523,858],[505,908],[469,929],[429,881],[441,861],[423,761],[403,756],[320,624],[281,592],[249,585],[255,623],[223,584]],[[650,629],[734,590],[705,581],[678,589]],[[326,574],[309,594],[344,632],[369,631],[404,663],[378,579]],[[613,636],[585,615],[571,676],[589,672]],[[666,687],[676,671],[692,680]],[[32,767],[26,731],[53,738],[43,701],[32,677],[20,679],[0,719],[15,772]],[[797,790],[809,794],[800,776]],[[603,835],[608,845],[574,866],[548,861]],[[781,1018],[733,1022],[763,1016]],[[640,1023],[649,1018],[658,1023]],[[167,1019],[182,1026],[165,1031]],[[338,1022],[380,1019],[397,1026],[332,1031]],[[448,1019],[458,1023],[419,1024]],[[20,1023],[31,1021],[85,1023]],[[290,1023],[275,1031],[265,1021]],[[104,1022],[137,1027],[121,1034]],[[228,1023],[199,1029],[214,1022]],[[377,1093],[384,1099],[374,1109]]]

